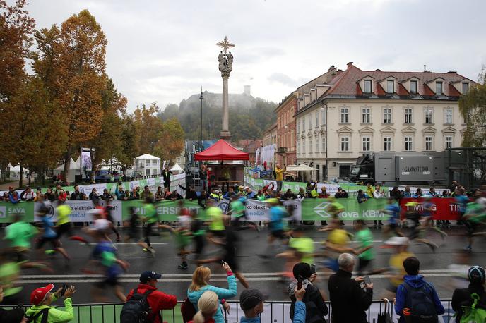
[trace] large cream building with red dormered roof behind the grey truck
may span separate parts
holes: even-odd
[[[297,163],[328,181],[348,176],[362,154],[458,147],[466,129],[458,99],[474,84],[456,72],[362,71],[348,63],[297,98]]]

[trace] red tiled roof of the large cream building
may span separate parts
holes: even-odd
[[[333,85],[330,90],[325,95],[359,95],[357,93],[356,83],[365,76],[372,76],[375,80],[383,80],[389,76],[393,76],[397,79],[398,83],[410,78],[417,78],[418,82],[418,92],[421,95],[435,95],[435,93],[430,90],[425,83],[434,80],[436,78],[443,78],[447,83],[455,83],[464,78],[464,76],[458,73],[432,73],[432,72],[390,72],[390,71],[362,71],[354,65],[348,67],[346,71],[336,75],[329,85]],[[470,80],[471,83],[474,83]],[[381,90],[383,90],[381,88]],[[375,91],[377,95],[385,94],[384,90],[381,92],[377,84],[377,90]],[[427,92],[425,92],[427,91]],[[446,93],[449,95],[449,93]]]

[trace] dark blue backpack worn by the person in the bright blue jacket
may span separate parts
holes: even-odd
[[[437,323],[437,310],[435,310],[434,300],[432,300],[433,288],[428,283],[424,286],[415,288],[407,283],[402,284],[407,290],[405,298],[405,307],[410,308],[412,312],[412,322],[417,323]]]

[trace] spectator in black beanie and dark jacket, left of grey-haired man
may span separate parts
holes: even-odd
[[[300,262],[295,264],[293,268],[293,274],[295,279],[302,279],[302,288],[305,289],[304,299],[306,307],[306,319],[305,322],[312,323],[325,323],[326,315],[328,314],[328,308],[322,298],[321,291],[312,282],[316,279],[316,273],[312,272],[311,265],[307,262]],[[295,310],[295,286],[297,281],[292,281],[288,287],[288,293],[292,304],[290,305],[290,319],[294,317]]]

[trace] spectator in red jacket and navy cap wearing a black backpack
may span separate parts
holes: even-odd
[[[150,312],[148,315],[148,322],[162,323],[158,313],[161,310],[172,310],[172,308],[177,305],[177,298],[174,295],[169,295],[163,293],[162,291],[158,291],[157,283],[158,279],[161,277],[161,274],[157,274],[150,270],[143,272],[140,275],[140,284],[138,284],[136,288],[132,289],[129,295],[126,295],[126,300],[128,301],[134,295],[134,293],[143,295],[146,292],[150,292],[147,296],[147,300],[152,312]]]

